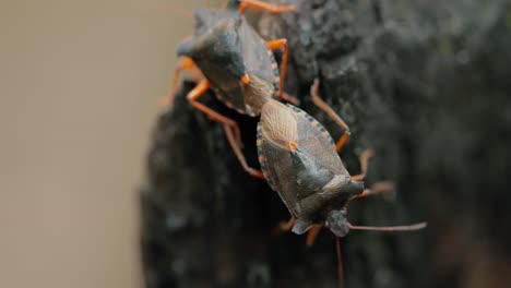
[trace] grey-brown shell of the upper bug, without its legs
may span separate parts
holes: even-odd
[[[247,104],[240,77],[253,74],[278,88],[277,63],[264,39],[237,10],[199,9],[195,20],[193,37],[178,46],[178,56],[193,59],[227,107],[259,115]]]

